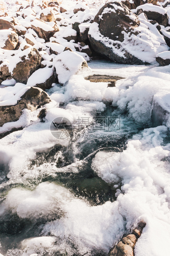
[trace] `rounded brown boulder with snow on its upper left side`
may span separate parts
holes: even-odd
[[[27,83],[28,78],[41,64],[41,55],[38,50],[29,47],[10,59],[9,72],[17,82]]]

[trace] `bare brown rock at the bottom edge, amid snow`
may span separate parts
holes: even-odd
[[[108,256],[134,256],[133,249],[145,225],[146,223],[141,222],[132,234],[124,235],[117,245],[110,250]]]

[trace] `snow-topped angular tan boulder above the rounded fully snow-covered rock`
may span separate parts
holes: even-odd
[[[48,41],[55,32],[59,31],[57,24],[54,27],[46,24],[45,21],[40,19],[35,19],[31,22],[32,29],[38,34],[39,38],[44,38]]]

